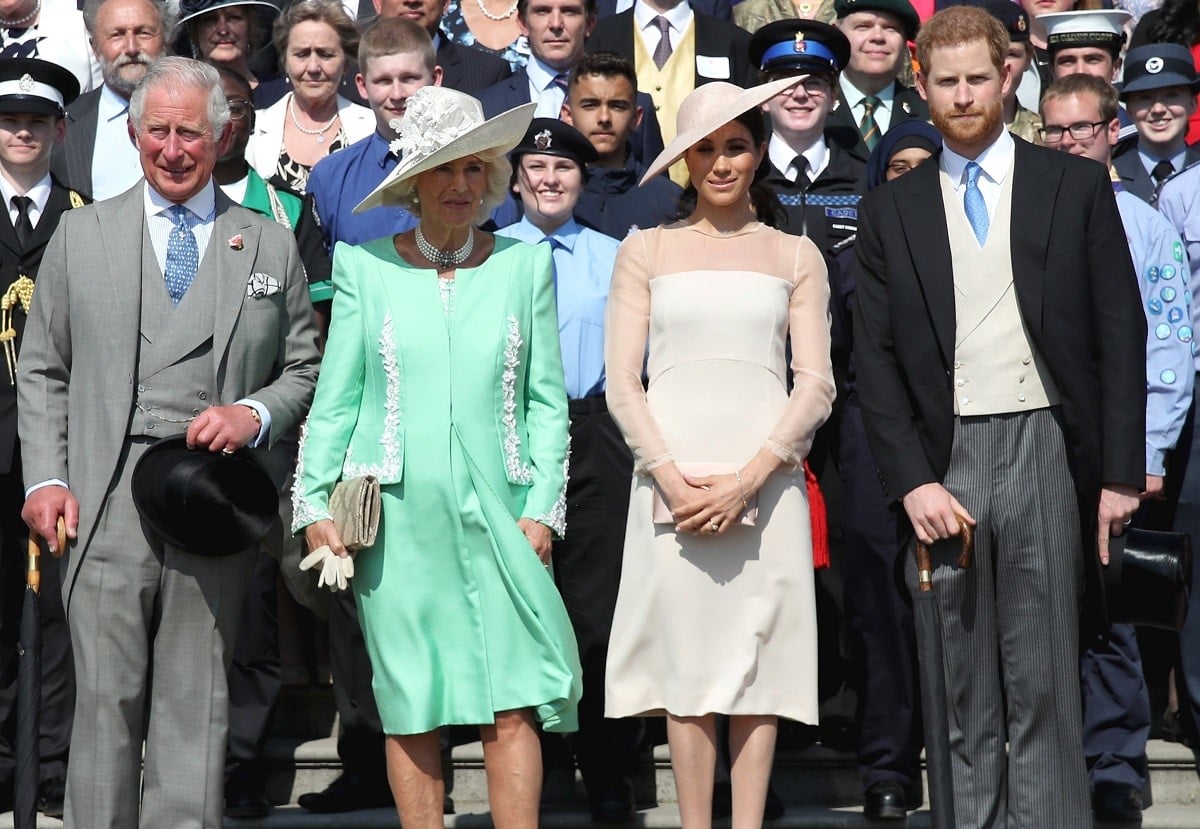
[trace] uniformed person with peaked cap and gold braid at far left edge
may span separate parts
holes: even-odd
[[[37,86],[19,91],[18,78]],[[17,636],[25,591],[28,530],[20,519],[25,500],[17,440],[17,388],[13,370],[34,280],[59,216],[84,199],[49,173],[50,149],[66,132],[64,104],[79,95],[67,70],[41,60],[0,60],[0,317],[5,364],[0,367],[0,812],[12,809],[14,770],[12,723],[17,715]],[[53,90],[53,91],[52,91]],[[7,305],[11,302],[11,306]],[[71,635],[62,608],[60,560],[42,557],[42,717],[40,809],[62,817],[62,795],[74,713]]]

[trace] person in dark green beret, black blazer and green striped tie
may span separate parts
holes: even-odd
[[[863,161],[896,121],[929,120],[929,107],[898,76],[908,59],[906,41],[920,19],[908,0],[836,0],[838,28],[850,40],[850,62],[839,78],[829,132],[848,137]]]

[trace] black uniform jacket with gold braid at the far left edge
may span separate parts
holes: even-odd
[[[4,312],[0,318],[0,340],[4,343],[5,367],[0,368],[0,474],[12,470],[13,450],[17,446],[17,386],[13,383],[16,361],[20,352],[20,338],[25,332],[31,288],[22,277],[37,280],[37,268],[42,264],[46,242],[54,235],[59,217],[72,208],[82,208],[88,200],[79,193],[50,179],[50,196],[46,200],[29,240],[23,248],[17,241],[17,232],[7,210],[0,210],[0,290],[4,293]],[[23,299],[24,298],[24,301]]]

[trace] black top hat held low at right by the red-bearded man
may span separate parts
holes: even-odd
[[[1188,614],[1192,536],[1130,529],[1109,539],[1104,593],[1109,620],[1178,630]]]

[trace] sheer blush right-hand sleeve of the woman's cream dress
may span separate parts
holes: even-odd
[[[763,446],[799,465],[812,435],[833,410],[835,395],[829,358],[829,275],[824,258],[808,238],[796,246],[794,286],[787,305],[792,344],[792,394]]]

